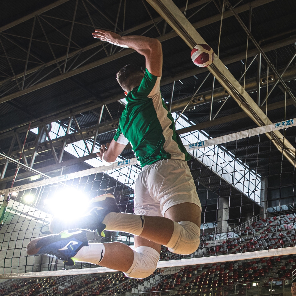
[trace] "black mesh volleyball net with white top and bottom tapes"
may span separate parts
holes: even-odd
[[[182,117],[176,128],[191,125]],[[159,267],[229,261],[238,254],[248,259],[296,252],[295,158],[283,155],[284,149],[295,154],[295,136],[291,136],[295,126],[296,119],[291,119],[214,139],[204,131],[181,135],[192,155],[188,165],[202,205],[200,246],[190,255],[176,255],[163,247]],[[87,263],[65,266],[46,255],[28,256],[26,246],[49,233],[54,215],[65,219],[79,215],[91,198],[101,194],[113,194],[122,212],[133,213],[140,172],[132,158],[0,190],[0,212],[6,209],[0,231],[0,274],[108,271]],[[105,231],[105,237],[89,232],[88,239],[134,244],[133,235],[120,231]]]

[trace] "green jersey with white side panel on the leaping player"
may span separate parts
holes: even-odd
[[[160,78],[146,69],[141,84],[126,96],[114,137],[117,143],[131,143],[142,168],[161,159],[191,159],[161,98]]]

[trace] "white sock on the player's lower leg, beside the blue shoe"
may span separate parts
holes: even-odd
[[[74,261],[99,264],[105,255],[105,246],[102,243],[83,246],[73,258]]]

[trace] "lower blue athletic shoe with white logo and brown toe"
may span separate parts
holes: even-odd
[[[70,229],[59,234],[49,234],[29,242],[28,255],[48,255],[64,261],[65,265],[74,265],[73,257],[83,247],[88,246],[86,232],[83,229]]]

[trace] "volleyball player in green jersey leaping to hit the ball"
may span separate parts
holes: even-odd
[[[146,70],[126,65],[117,80],[128,102],[114,139],[102,145],[98,156],[104,165],[116,161],[131,143],[142,171],[135,184],[134,213],[120,213],[111,194],[95,197],[77,221],[55,217],[53,233],[31,241],[29,255],[51,254],[65,260],[99,264],[145,278],[159,260],[161,245],[177,254],[191,254],[200,244],[201,205],[189,167],[190,159],[175,131],[172,115],[160,95],[163,55],[157,39],[119,36],[95,30],[94,38],[134,49],[146,59]],[[69,230],[70,229],[70,230]],[[120,242],[88,243],[86,230],[104,229],[134,234],[135,249]]]

